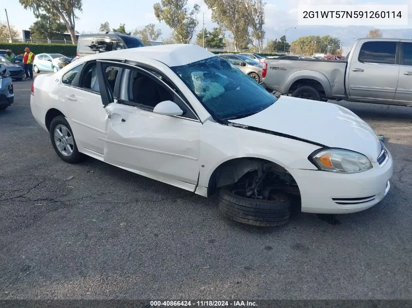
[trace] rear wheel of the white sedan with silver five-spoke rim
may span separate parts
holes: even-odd
[[[72,128],[61,115],[50,124],[50,140],[57,155],[66,163],[78,163],[84,158],[78,151]]]

